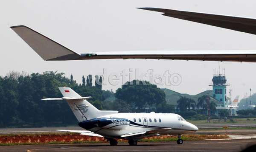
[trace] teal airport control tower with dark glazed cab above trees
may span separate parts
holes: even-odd
[[[212,78],[212,94],[215,99],[223,103],[221,107],[227,107],[227,79],[225,74],[214,74]]]

